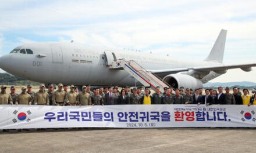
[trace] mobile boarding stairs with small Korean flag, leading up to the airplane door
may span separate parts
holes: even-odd
[[[163,82],[160,78],[152,74],[151,71],[145,70],[136,61],[125,59],[115,60],[112,66],[109,67],[116,70],[126,70],[131,76],[137,79],[144,86],[150,86],[151,89],[155,90],[157,86],[160,87],[160,91],[163,93],[163,88],[168,87],[168,83]]]

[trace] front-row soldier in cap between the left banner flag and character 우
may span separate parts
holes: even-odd
[[[35,93],[35,105],[49,105],[49,94],[45,92],[45,86],[40,85],[39,91]]]

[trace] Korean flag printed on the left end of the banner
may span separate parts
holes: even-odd
[[[26,107],[10,108],[9,125],[18,125],[24,123],[33,123],[33,109]]]

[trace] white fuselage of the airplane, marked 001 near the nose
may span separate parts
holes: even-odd
[[[146,70],[216,65],[209,61],[177,60],[170,56],[111,50],[76,43],[41,42],[17,47],[20,48],[31,49],[34,53],[10,53],[2,56],[1,68],[18,77],[43,83],[119,86],[137,84],[125,70],[109,70],[106,65],[107,51],[114,52],[117,59],[135,60]],[[38,54],[45,57],[38,57]]]

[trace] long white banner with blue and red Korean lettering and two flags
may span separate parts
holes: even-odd
[[[256,127],[256,105],[1,105],[0,129]]]

